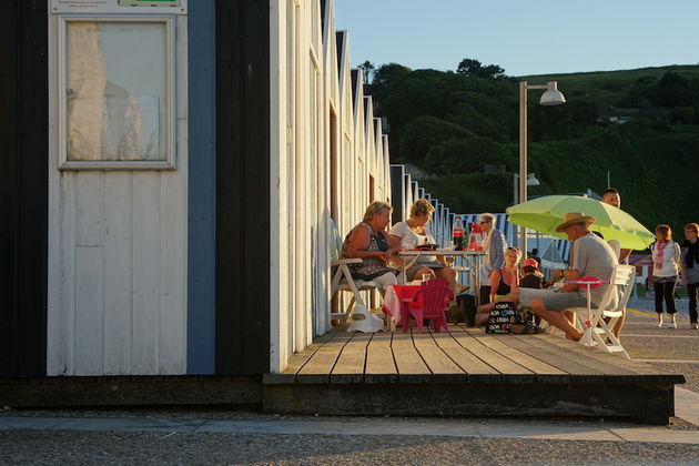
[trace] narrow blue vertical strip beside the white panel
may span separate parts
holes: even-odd
[[[215,372],[215,0],[189,8],[188,373]]]

